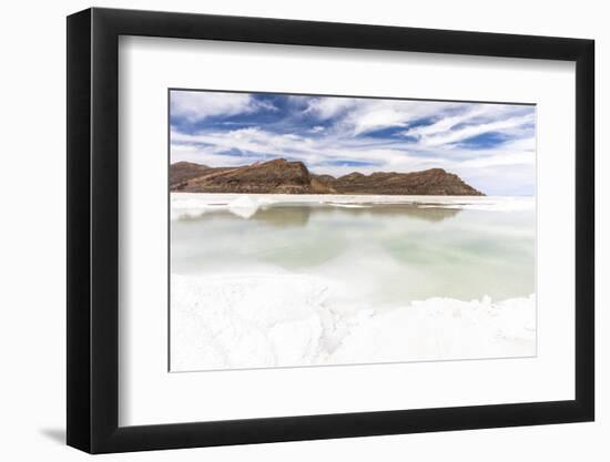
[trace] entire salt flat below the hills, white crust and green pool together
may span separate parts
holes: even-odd
[[[536,355],[531,197],[171,195],[171,370]]]

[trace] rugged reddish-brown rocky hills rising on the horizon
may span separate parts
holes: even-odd
[[[443,168],[423,172],[358,172],[335,178],[314,175],[302,162],[283,158],[241,167],[207,167],[179,162],[170,167],[171,191],[251,194],[388,194],[481,196]]]

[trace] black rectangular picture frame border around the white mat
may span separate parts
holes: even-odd
[[[120,35],[576,62],[576,399],[119,427]],[[535,425],[594,418],[594,42],[88,9],[68,17],[68,444],[90,453]]]

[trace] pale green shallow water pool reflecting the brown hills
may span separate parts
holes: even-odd
[[[535,291],[535,219],[533,211],[400,204],[275,204],[248,218],[217,209],[172,222],[171,269],[316,275],[348,287],[355,301],[394,306],[506,299]]]

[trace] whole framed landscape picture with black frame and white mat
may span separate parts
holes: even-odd
[[[68,444],[591,421],[593,41],[68,18]]]

